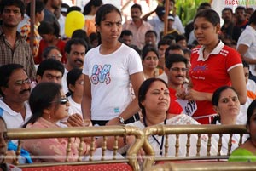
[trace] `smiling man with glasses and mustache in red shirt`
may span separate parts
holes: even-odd
[[[168,77],[168,88],[170,92],[170,108],[169,113],[180,114],[183,108],[177,103],[176,91],[183,87],[185,83],[188,60],[181,54],[168,54],[166,56],[165,73]]]

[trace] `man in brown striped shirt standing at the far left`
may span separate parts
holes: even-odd
[[[24,66],[28,77],[34,80],[36,69],[32,50],[17,31],[24,13],[25,5],[21,0],[2,0],[0,3],[0,14],[3,20],[3,25],[0,26],[0,66],[20,64]]]

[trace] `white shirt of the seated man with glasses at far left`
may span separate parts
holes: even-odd
[[[23,120],[20,112],[13,111],[11,108],[9,108],[9,105],[6,105],[3,102],[3,99],[0,99],[0,108],[3,110],[1,110],[3,112],[2,117],[7,125],[7,128],[21,128],[30,119],[32,116],[30,106],[27,104],[27,102],[24,102],[24,105],[26,108],[25,120]]]

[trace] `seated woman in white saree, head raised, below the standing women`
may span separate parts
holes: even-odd
[[[166,83],[160,78],[148,78],[143,82],[139,88],[138,103],[142,109],[143,119],[135,123],[129,123],[129,125],[137,126],[138,128],[146,128],[148,126],[157,124],[200,124],[197,123],[192,117],[184,114],[172,115],[170,119],[166,119],[167,111],[170,105],[170,95]],[[168,114],[170,115],[170,114]],[[156,155],[164,155],[161,151],[165,146],[165,136],[152,135],[149,137],[149,143],[153,146]],[[127,136],[126,140],[119,139],[120,153],[125,152],[128,147],[133,143],[134,137]],[[175,156],[175,143],[176,136],[169,135],[169,156]],[[187,142],[186,135],[179,136],[179,142]],[[197,135],[191,134],[190,136],[190,156],[196,155],[196,142]],[[113,146],[113,139],[108,139],[108,148],[111,149]],[[218,143],[212,140],[211,155],[217,154]],[[180,143],[179,156],[186,155],[185,143]],[[201,136],[201,155],[207,155],[207,135]],[[139,155],[144,155],[143,150],[140,151]]]

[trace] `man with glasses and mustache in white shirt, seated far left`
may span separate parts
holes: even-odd
[[[0,116],[7,128],[21,128],[32,116],[27,100],[31,92],[31,80],[20,64],[0,67]]]

